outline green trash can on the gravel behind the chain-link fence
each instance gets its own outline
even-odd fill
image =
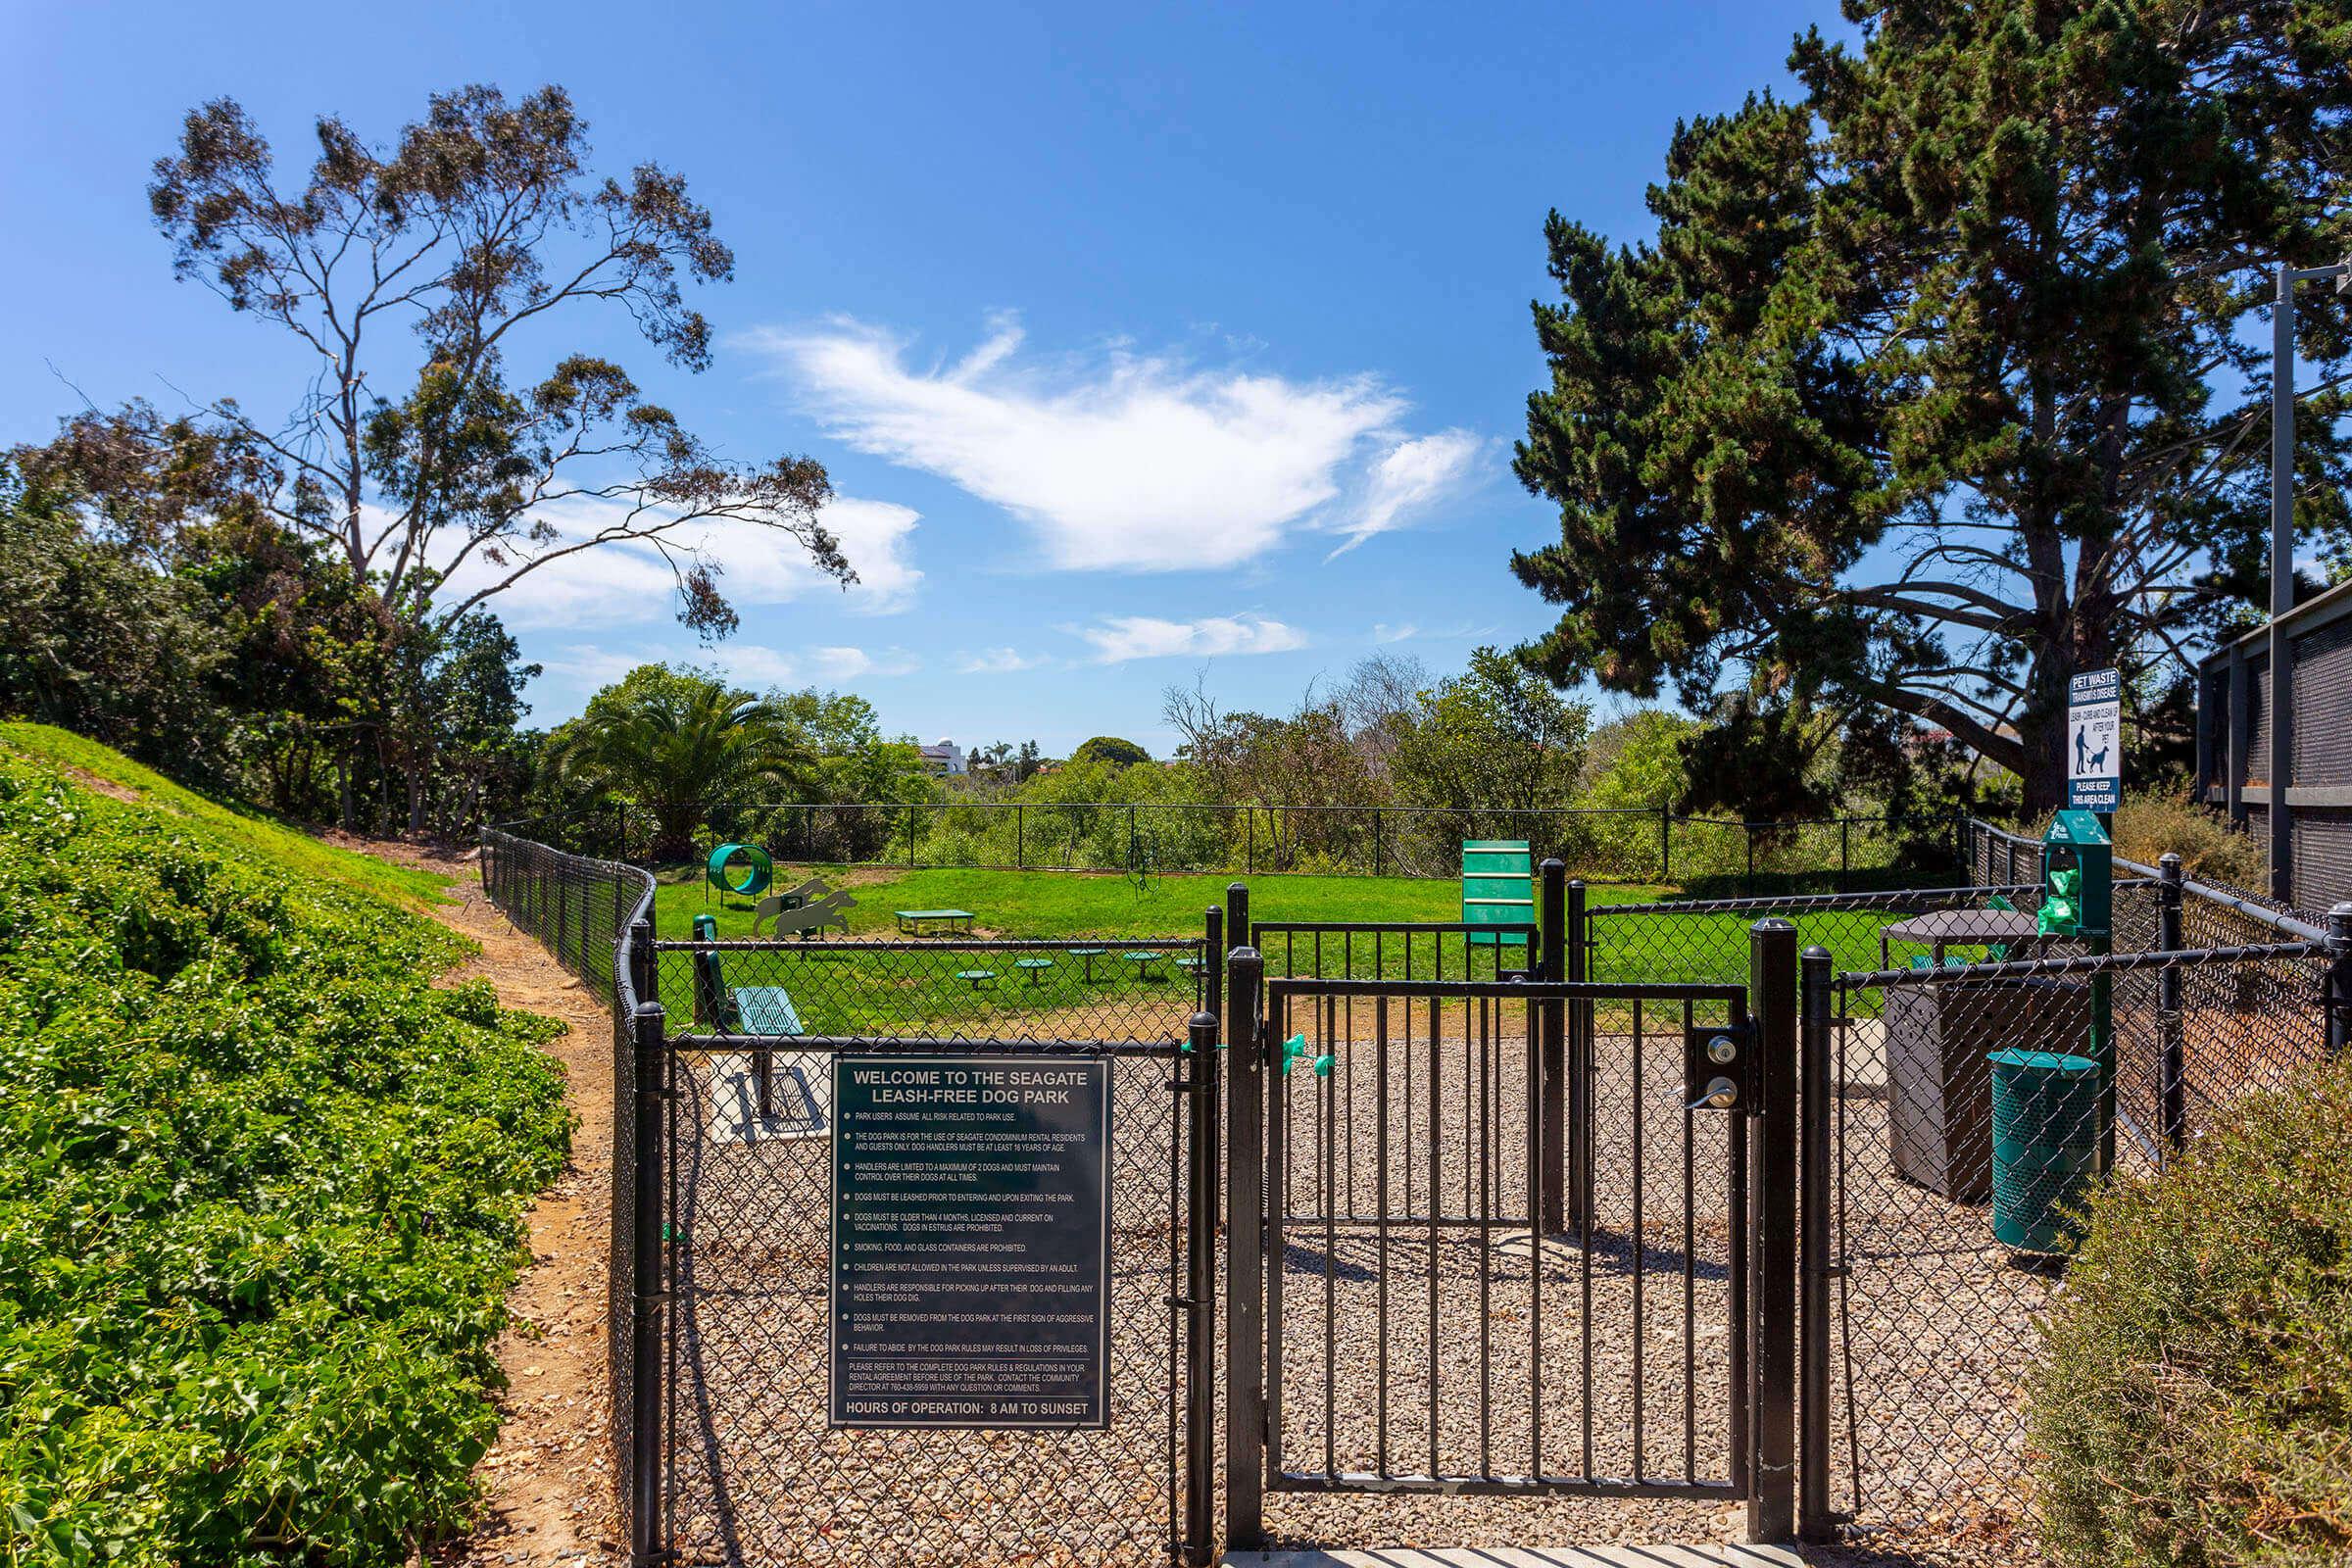
[[[2063,1253],[2098,1175],[2098,1063],[2060,1051],[1994,1051],[1992,1237],[2020,1253]]]

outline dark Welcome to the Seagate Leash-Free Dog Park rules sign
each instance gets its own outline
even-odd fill
[[[1110,1063],[833,1063],[833,1427],[1105,1427]]]

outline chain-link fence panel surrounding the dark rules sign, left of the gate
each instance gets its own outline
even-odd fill
[[[1131,1563],[1178,1549],[1190,1145],[1176,1067],[1200,959],[1200,938],[659,945],[677,1020],[666,1453],[680,1561]],[[1110,1065],[1108,1429],[828,1429],[840,1053]]]

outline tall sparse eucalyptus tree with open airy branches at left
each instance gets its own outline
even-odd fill
[[[212,430],[256,454],[268,512],[327,545],[393,637],[447,635],[555,562],[614,545],[659,557],[677,616],[722,637],[736,611],[717,524],[764,529],[854,581],[818,520],[823,465],[724,458],[619,362],[562,346],[602,306],[670,364],[710,364],[687,287],[731,277],[734,254],[682,176],[652,162],[597,174],[560,87],[435,94],[386,146],[325,115],[313,141],[282,176],[252,115],[216,99],[188,113],[148,200],[179,275],[294,350],[301,390],[282,414],[221,400]],[[414,813],[433,764],[423,691],[388,698]]]

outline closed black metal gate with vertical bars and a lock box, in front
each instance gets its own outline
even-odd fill
[[[1755,1009],[1555,954],[1230,957],[1230,1544],[1270,1493],[1745,1500],[1755,1540],[1792,1533],[1797,954],[1769,924]]]

